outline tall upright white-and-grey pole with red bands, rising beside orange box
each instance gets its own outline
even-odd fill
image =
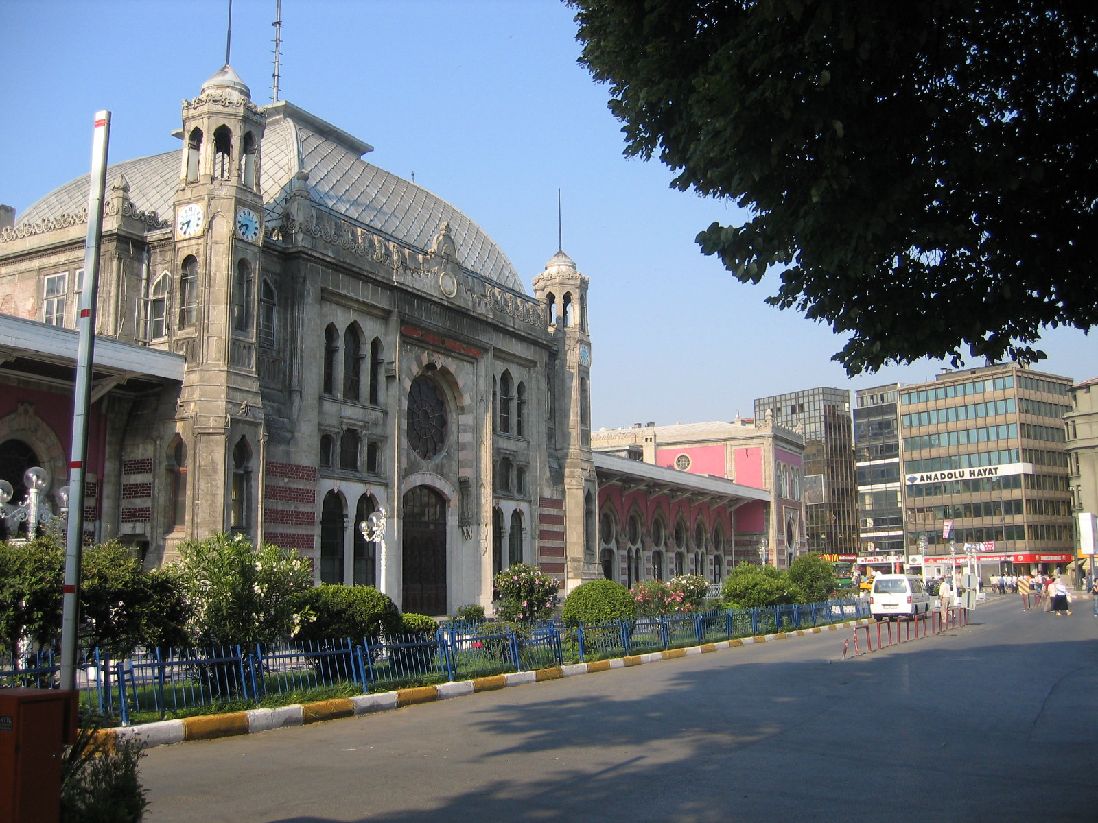
[[[107,185],[107,145],[111,113],[97,112],[91,140],[88,191],[88,234],[83,247],[85,290],[77,320],[76,390],[72,396],[72,456],[69,459],[69,517],[65,533],[65,587],[61,599],[60,687],[76,688],[76,640],[80,609],[80,552],[83,543],[85,461],[91,412],[91,367],[96,346],[96,304],[99,285],[99,245],[103,234],[103,192]]]

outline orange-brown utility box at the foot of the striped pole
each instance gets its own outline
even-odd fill
[[[78,692],[0,688],[0,823],[56,823]]]

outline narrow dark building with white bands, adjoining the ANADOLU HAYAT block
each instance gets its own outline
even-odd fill
[[[860,388],[854,395],[858,554],[862,557],[905,554],[899,391],[900,385],[892,383]]]

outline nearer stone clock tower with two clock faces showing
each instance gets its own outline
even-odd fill
[[[182,104],[169,323],[172,348],[187,367],[169,440],[181,441],[188,455],[186,497],[193,516],[175,518],[166,556],[175,542],[212,531],[260,533],[255,489],[262,482],[265,440],[257,371],[265,121],[227,65]],[[208,512],[202,521],[197,500]]]

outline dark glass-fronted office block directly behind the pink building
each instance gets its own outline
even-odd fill
[[[755,419],[773,418],[805,439],[804,483],[808,551],[853,554],[858,546],[856,484],[850,392],[808,388],[754,402]]]

